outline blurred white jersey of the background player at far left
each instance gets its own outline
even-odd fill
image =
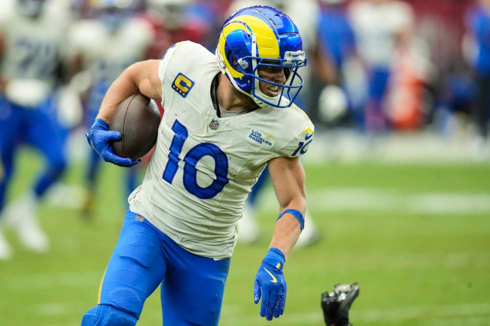
[[[1,11],[0,34],[5,44],[0,74],[9,81],[4,96],[22,106],[37,106],[55,85],[70,23],[69,7],[63,1],[48,0],[39,17],[29,18],[17,12],[14,1],[6,0]]]

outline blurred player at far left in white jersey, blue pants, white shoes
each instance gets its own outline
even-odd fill
[[[0,220],[11,222],[29,250],[49,247],[36,208],[65,169],[65,128],[58,120],[54,91],[69,25],[69,8],[57,0],[4,0],[0,12]],[[18,146],[36,148],[45,168],[27,194],[4,208]],[[3,223],[5,224],[5,223]],[[0,233],[0,259],[11,249]]]

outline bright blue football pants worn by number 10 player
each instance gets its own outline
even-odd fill
[[[230,259],[182,249],[141,216],[127,211],[99,289],[81,326],[133,326],[161,284],[163,326],[218,325]]]

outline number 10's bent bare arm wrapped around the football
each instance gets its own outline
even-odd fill
[[[161,100],[161,82],[158,78],[160,60],[133,63],[110,85],[100,104],[97,118],[110,122],[119,105],[127,97],[141,93],[146,97]]]

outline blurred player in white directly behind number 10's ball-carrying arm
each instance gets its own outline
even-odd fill
[[[81,66],[90,79],[84,99],[87,129],[95,120],[110,84],[130,64],[143,60],[153,41],[151,26],[134,15],[137,4],[136,0],[91,1],[89,16],[96,18],[79,20],[73,26],[72,48],[79,53]],[[83,204],[87,214],[92,210],[99,165],[100,157],[92,150],[86,174],[87,195]],[[135,188],[136,179],[137,170],[129,171],[124,195]]]

